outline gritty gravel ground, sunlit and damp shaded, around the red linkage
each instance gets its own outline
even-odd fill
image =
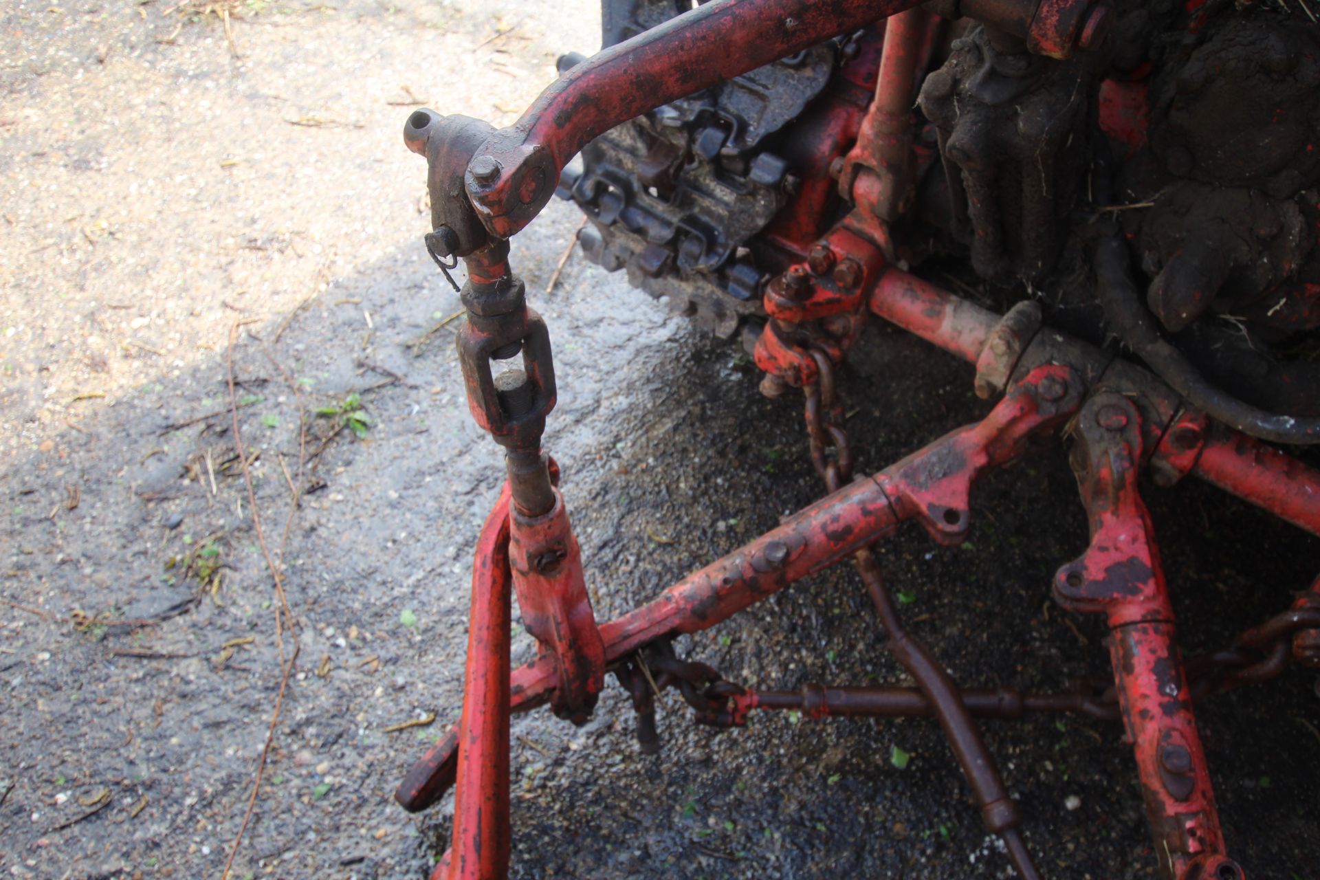
[[[391,793],[458,715],[470,555],[502,467],[467,416],[454,325],[436,330],[458,299],[421,248],[425,173],[400,129],[418,100],[511,121],[560,51],[598,45],[598,12],[224,8],[232,40],[220,7],[0,11],[8,876],[220,876],[280,681],[227,412],[236,323],[240,431],[260,453],[257,512],[300,656],[234,876],[420,879],[449,833],[451,803],[409,817]],[[756,394],[737,350],[579,256],[544,294],[577,223],[553,203],[513,261],[553,335],[546,447],[607,617],[818,486],[797,401]],[[969,368],[884,329],[849,372],[862,470],[986,409]],[[313,414],[358,412],[352,394],[362,438]],[[1315,574],[1320,542],[1232,499],[1148,495],[1189,649]],[[993,475],[974,500],[962,548],[915,530],[882,545],[915,632],[969,685],[1102,674],[1096,621],[1065,620],[1048,596],[1086,541],[1064,456]],[[902,681],[843,570],[678,646],[763,687]],[[531,649],[517,631],[516,660]],[[1312,686],[1294,672],[1201,712],[1230,851],[1254,876],[1320,876]],[[659,756],[638,753],[618,690],[583,728],[515,719],[513,876],[1006,876],[933,723],[785,715],[717,734],[669,703]],[[1152,876],[1121,731],[986,730],[1047,876]],[[895,747],[912,756],[903,769]]]

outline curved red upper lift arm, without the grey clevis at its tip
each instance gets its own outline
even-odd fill
[[[917,0],[713,0],[574,66],[510,128],[491,135],[466,175],[491,235],[511,237],[549,201],[560,172],[591,139],[702,88]],[[490,157],[498,168],[486,161]]]

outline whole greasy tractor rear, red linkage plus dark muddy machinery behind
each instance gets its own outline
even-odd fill
[[[473,417],[508,480],[477,549],[462,718],[396,797],[454,789],[441,879],[506,876],[510,712],[585,722],[612,673],[643,748],[653,698],[697,720],[754,710],[933,715],[985,826],[1041,876],[975,716],[1121,720],[1162,876],[1241,880],[1193,703],[1320,668],[1320,579],[1226,649],[1179,652],[1138,476],[1193,476],[1320,534],[1320,26],[1303,0],[605,0],[605,49],[565,55],[513,125],[413,112],[442,269],[463,260],[458,338]],[[579,161],[574,161],[581,154]],[[826,495],[598,621],[541,449],[554,406],[545,322],[508,240],[558,193],[586,255],[801,389]],[[995,314],[920,277],[962,268]],[[909,272],[913,269],[913,272]],[[873,315],[975,364],[982,421],[867,476],[851,472],[838,367]],[[900,522],[958,544],[969,492],[1027,443],[1064,434],[1090,544],[1053,599],[1100,613],[1113,682],[1064,694],[960,690],[908,631],[869,550]],[[754,691],[671,641],[850,559],[916,687]],[[519,603],[539,656],[510,669]]]

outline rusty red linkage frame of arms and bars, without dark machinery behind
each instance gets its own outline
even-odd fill
[[[964,15],[993,20],[1055,57],[1102,42],[1110,16],[1104,3],[1090,0],[968,0],[964,7]],[[508,239],[541,211],[565,165],[595,136],[886,18],[874,102],[854,120],[855,142],[832,162],[832,178],[854,207],[824,236],[795,244],[800,261],[764,292],[770,321],[755,351],[771,391],[805,389],[812,459],[829,493],[643,607],[598,621],[556,488],[557,466],[541,449],[556,401],[549,335],[508,265]],[[1041,326],[1030,301],[998,315],[892,265],[886,218],[894,215],[895,181],[912,149],[913,77],[931,18],[913,0],[713,0],[570,67],[508,128],[428,110],[409,116],[405,141],[429,165],[428,248],[444,268],[465,260],[469,274],[458,348],[471,414],[506,447],[508,466],[477,545],[462,718],[396,793],[405,809],[421,810],[454,789],[453,840],[433,880],[507,875],[510,715],[549,703],[561,718],[582,723],[607,672],[632,697],[643,748],[655,745],[653,697],[668,686],[681,691],[698,720],[719,726],[742,724],[754,710],[933,715],[985,826],[1002,836],[1023,877],[1040,872],[975,716],[1072,711],[1121,719],[1162,875],[1246,876],[1225,852],[1193,703],[1271,678],[1291,662],[1320,666],[1320,581],[1228,649],[1184,662],[1138,476],[1148,471],[1164,486],[1195,476],[1320,534],[1320,472],[1208,418],[1184,400],[1185,389],[1143,367]],[[1114,239],[1097,247],[1097,274],[1119,294],[1134,293],[1122,289],[1126,259]],[[999,400],[982,421],[854,479],[834,367],[867,314],[975,364],[977,393]],[[492,363],[519,355],[519,368],[495,373]],[[1090,544],[1059,569],[1053,598],[1069,611],[1105,615],[1113,683],[1063,694],[960,690],[904,631],[869,548],[908,520],[941,544],[961,542],[978,476],[1020,456],[1034,438],[1064,429],[1073,438],[1071,460]],[[754,691],[675,657],[669,643],[676,636],[714,627],[846,558],[915,687]],[[539,656],[511,669],[515,598]]]

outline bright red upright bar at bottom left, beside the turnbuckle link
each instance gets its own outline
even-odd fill
[[[432,880],[508,875],[510,604],[508,484],[482,526],[467,617],[463,714],[458,722],[454,836]]]

